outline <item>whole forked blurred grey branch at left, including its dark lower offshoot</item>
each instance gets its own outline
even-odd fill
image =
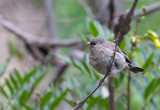
[[[55,52],[55,47],[59,46],[76,46],[77,49],[83,49],[84,44],[81,40],[58,40],[58,39],[46,39],[40,36],[32,35],[26,32],[23,32],[21,29],[17,28],[15,25],[10,23],[7,20],[4,20],[0,17],[0,24],[5,27],[7,30],[11,31],[18,37],[23,40],[27,50],[29,53],[38,61],[43,64],[51,63],[52,65],[58,65],[57,68],[57,76],[54,79],[54,83],[59,79],[60,76],[64,73],[65,69],[68,67],[64,61],[57,57],[59,54],[57,51]],[[50,48],[54,49],[53,55],[49,59],[46,58],[46,55],[50,52]]]

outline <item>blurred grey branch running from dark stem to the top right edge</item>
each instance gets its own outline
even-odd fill
[[[146,6],[145,12],[143,12],[142,9],[135,11],[134,17],[139,17],[143,14],[144,15],[151,14],[151,13],[158,11],[158,10],[160,10],[160,2],[152,4],[150,6]]]

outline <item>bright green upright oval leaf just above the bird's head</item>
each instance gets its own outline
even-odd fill
[[[97,37],[98,34],[99,34],[98,29],[96,28],[96,26],[93,23],[93,21],[89,22],[89,31],[94,37]]]

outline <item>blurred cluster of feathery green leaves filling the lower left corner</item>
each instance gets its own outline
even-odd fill
[[[3,65],[1,67],[4,68]],[[5,69],[6,67],[7,66],[5,66]],[[38,66],[22,77],[18,70],[15,69],[14,73],[10,74],[9,78],[5,79],[4,84],[0,86],[0,94],[3,95],[6,99],[6,101],[1,102],[4,103],[4,105],[6,103],[4,108],[15,110],[25,108],[26,110],[35,110],[38,108],[44,109],[44,107],[47,107],[53,110],[55,107],[57,107],[59,103],[64,100],[69,89],[64,91],[61,90],[61,95],[59,96],[54,94],[54,91],[50,89],[44,93],[38,102],[30,103],[29,101],[33,95],[34,90],[44,79],[47,72],[48,68]]]

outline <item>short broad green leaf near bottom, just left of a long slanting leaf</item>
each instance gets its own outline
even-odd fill
[[[51,99],[51,97],[52,97],[52,92],[48,92],[47,94],[45,94],[40,100],[41,107],[45,106],[45,104]]]

